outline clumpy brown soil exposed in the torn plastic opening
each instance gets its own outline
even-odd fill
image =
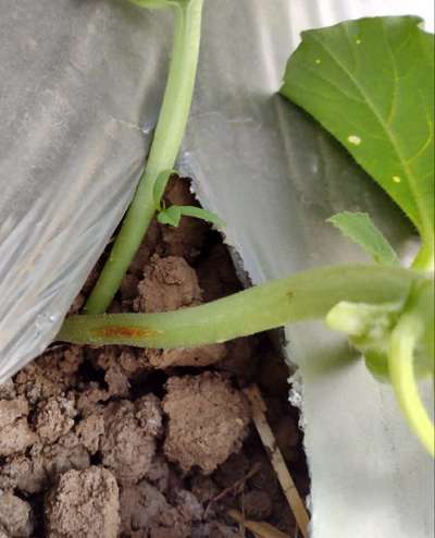
[[[166,204],[174,203],[196,203],[187,182],[171,181]],[[71,311],[79,311],[100,268]],[[111,311],[184,308],[239,289],[208,225],[154,221]],[[0,387],[0,538],[240,536],[229,508],[295,536],[240,390],[259,384],[306,496],[287,377],[264,334],[196,350],[54,344]]]

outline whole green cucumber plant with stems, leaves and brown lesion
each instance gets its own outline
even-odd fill
[[[411,429],[434,455],[434,426],[417,384],[434,376],[434,36],[411,16],[306,32],[281,89],[340,140],[414,224],[422,246],[412,267],[400,267],[368,215],[344,212],[331,223],[373,264],[310,269],[174,313],[104,315],[154,212],[172,225],[182,215],[222,225],[199,208],[166,209],[161,201],[191,102],[202,0],[133,1],[175,12],[163,105],[136,196],[86,314],[69,317],[58,339],[186,347],[323,319],[348,335],[377,378],[391,382]]]

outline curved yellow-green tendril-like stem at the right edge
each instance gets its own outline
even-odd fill
[[[435,429],[419,394],[414,350],[422,332],[421,321],[403,316],[393,331],[388,356],[389,375],[397,400],[412,431],[427,452],[435,456]]]

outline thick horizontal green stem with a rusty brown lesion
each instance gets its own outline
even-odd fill
[[[311,269],[201,306],[161,314],[72,316],[58,340],[141,347],[192,347],[324,318],[340,301],[405,301],[423,277],[409,269],[349,265]]]

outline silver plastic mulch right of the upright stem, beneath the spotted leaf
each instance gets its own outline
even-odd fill
[[[215,50],[208,58],[212,66],[199,73],[186,140],[197,192],[231,223],[227,242],[254,283],[313,266],[366,261],[325,224],[344,209],[370,212],[406,257],[414,237],[397,208],[315,122],[271,95],[300,29],[406,13],[407,7],[296,0],[281,5],[272,10],[258,0],[245,2],[243,13],[234,9],[234,24],[244,32],[232,40],[233,53]],[[417,2],[412,11],[418,8]],[[420,8],[424,13],[430,5]],[[217,4],[209,7],[210,19],[219,12]],[[210,25],[206,50],[219,32]],[[303,415],[312,537],[433,536],[434,463],[409,432],[391,388],[378,383],[357,356],[349,360],[345,340],[322,323],[293,326],[286,334],[302,381],[290,395]],[[430,398],[431,387],[424,389]]]

